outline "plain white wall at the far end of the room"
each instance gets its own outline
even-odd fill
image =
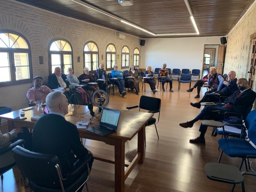
[[[202,70],[204,45],[220,44],[220,36],[191,38],[147,38],[142,46],[142,66]],[[218,52],[217,52],[218,53]]]

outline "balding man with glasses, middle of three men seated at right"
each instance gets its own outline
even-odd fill
[[[230,71],[228,73],[228,80],[224,81],[220,87],[220,91],[207,91],[204,97],[198,103],[190,103],[191,106],[200,108],[202,102],[213,102],[218,101],[220,96],[230,96],[238,90],[236,85],[236,72]]]

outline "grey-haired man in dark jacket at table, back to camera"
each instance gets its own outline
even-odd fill
[[[34,152],[56,155],[64,174],[72,172],[76,162],[87,155],[90,155],[91,159],[90,169],[93,162],[92,153],[84,148],[80,141],[76,125],[65,119],[65,115],[68,114],[68,105],[68,100],[60,91],[49,93],[46,97],[46,106],[50,113],[38,119],[33,130]],[[82,168],[77,176],[85,170],[87,167]],[[75,181],[76,176],[72,180]],[[82,191],[82,188],[79,191]]]

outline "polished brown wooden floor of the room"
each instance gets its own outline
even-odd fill
[[[192,86],[194,83],[195,81],[192,82]],[[178,91],[178,83],[173,81],[173,93],[159,91],[153,95],[148,84],[146,84],[146,93],[140,90],[140,95],[135,95],[131,91],[125,97],[120,97],[118,91],[114,95],[110,93],[110,102],[107,107],[113,109],[126,109],[127,106],[137,105],[141,95],[162,99],[160,123],[157,124],[160,139],[157,139],[154,125],[146,127],[145,162],[138,164],[126,179],[126,192],[230,191],[232,187],[230,184],[209,180],[204,170],[207,162],[218,160],[220,150],[218,150],[217,141],[220,137],[210,137],[212,128],[209,128],[206,133],[206,145],[190,144],[189,139],[198,137],[201,122],[195,123],[194,127],[188,129],[179,126],[179,123],[191,120],[200,112],[200,109],[189,105],[190,102],[196,102],[199,99],[194,99],[196,90],[188,93],[186,91],[188,88],[188,84],[182,83],[181,90]],[[140,89],[142,89],[142,84],[140,84]],[[201,98],[205,91],[206,89],[202,88]],[[6,127],[2,125],[3,131],[6,131]],[[113,146],[88,139],[85,145],[94,154],[114,158]],[[126,143],[126,160],[134,157],[136,146],[137,137]],[[240,159],[230,158],[224,154],[221,162],[239,166]],[[252,168],[256,170],[255,161],[252,162]],[[244,170],[244,167],[242,169]],[[245,176],[246,192],[256,191],[255,181],[256,177]],[[91,192],[113,192],[114,165],[95,160],[88,186]],[[0,190],[2,192],[28,192],[29,188],[20,184],[18,169],[14,168],[4,174]],[[237,185],[234,191],[240,192],[241,185]],[[83,192],[86,192],[86,188]]]

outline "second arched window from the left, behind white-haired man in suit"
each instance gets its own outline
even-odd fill
[[[60,67],[62,73],[67,73],[68,67],[73,67],[73,51],[67,40],[52,40],[50,43],[50,67],[49,73],[53,73],[55,67]]]

